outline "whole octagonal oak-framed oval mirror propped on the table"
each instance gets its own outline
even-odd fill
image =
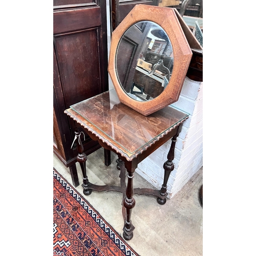
[[[145,116],[176,102],[191,56],[173,8],[136,5],[112,33],[108,70],[119,100]]]

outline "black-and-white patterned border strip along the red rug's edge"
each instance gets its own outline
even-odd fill
[[[106,233],[106,235],[115,243],[125,255],[140,256],[129,244],[118,234],[115,229],[100,215],[100,213],[74,189],[71,184],[62,177],[61,174],[53,167],[53,176],[62,184],[63,187],[79,202],[79,204],[88,212],[98,226]],[[98,218],[97,218],[98,217]]]

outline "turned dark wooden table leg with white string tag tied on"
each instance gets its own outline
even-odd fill
[[[78,155],[76,157],[77,162],[80,164],[81,170],[82,170],[82,179],[83,179],[83,194],[86,196],[91,195],[92,189],[88,189],[87,187],[89,186],[89,180],[86,174],[86,160],[87,160],[87,155],[83,153],[83,145],[82,141],[80,138],[81,132],[78,131],[78,129],[75,129],[75,135],[78,138],[77,141],[77,151]]]

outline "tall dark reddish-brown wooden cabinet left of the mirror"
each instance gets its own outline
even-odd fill
[[[75,186],[75,123],[64,111],[109,89],[106,26],[104,0],[53,1],[53,151],[70,168]],[[100,145],[83,133],[89,155]]]

